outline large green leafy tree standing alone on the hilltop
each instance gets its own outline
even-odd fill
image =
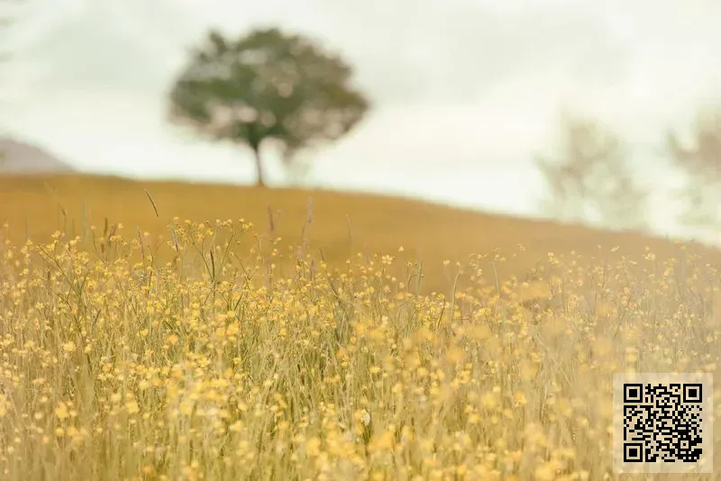
[[[172,87],[170,121],[250,147],[264,186],[266,141],[276,141],[290,163],[297,150],[337,140],[360,122],[370,105],[351,74],[300,35],[267,29],[231,41],[211,31]]]

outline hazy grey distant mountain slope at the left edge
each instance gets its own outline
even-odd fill
[[[0,174],[69,173],[75,169],[29,143],[0,137]]]

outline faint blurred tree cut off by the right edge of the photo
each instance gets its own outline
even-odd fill
[[[686,145],[675,132],[668,133],[666,142],[674,167],[686,175],[681,194],[687,206],[680,222],[721,228],[721,109],[698,113]]]

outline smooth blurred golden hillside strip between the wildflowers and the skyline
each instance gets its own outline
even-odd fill
[[[547,259],[549,252],[560,255],[576,250],[600,257],[642,259],[648,247],[659,258],[678,254],[678,247],[669,241],[635,233],[598,231],[379,195],[77,175],[0,177],[0,222],[9,222],[9,235],[15,242],[27,237],[45,240],[56,230],[81,235],[89,225],[102,230],[105,220],[122,223],[124,234],[130,237],[137,237],[137,231],[148,231],[152,238],[162,235],[167,240],[169,223],[176,216],[180,222],[243,218],[255,224],[256,233],[280,237],[292,246],[302,243],[305,232],[309,250],[316,254],[323,250],[324,259],[331,264],[342,264],[359,252],[420,258],[427,277],[436,283],[438,279],[451,282],[452,268],[443,267],[444,259],[465,261],[472,253],[494,249],[507,257],[505,262],[488,264],[499,277],[523,277],[534,262]],[[402,255],[398,253],[401,246]],[[616,246],[619,250],[611,253]],[[716,251],[698,249],[708,259],[718,259]]]

